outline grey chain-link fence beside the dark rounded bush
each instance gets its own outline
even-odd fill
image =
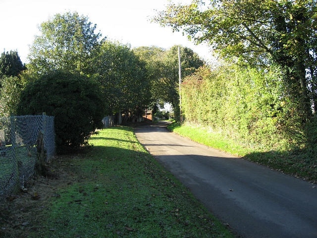
[[[0,118],[0,201],[33,175],[40,147],[49,160],[55,152],[54,117]]]

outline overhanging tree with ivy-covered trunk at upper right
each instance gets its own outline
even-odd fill
[[[253,65],[275,63],[284,72],[285,95],[303,121],[317,98],[317,0],[193,0],[169,4],[155,20],[207,42],[222,56]]]

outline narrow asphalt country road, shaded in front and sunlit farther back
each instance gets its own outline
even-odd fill
[[[168,132],[135,128],[145,148],[242,238],[317,238],[317,187]]]

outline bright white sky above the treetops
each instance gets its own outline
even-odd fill
[[[189,3],[190,0],[172,0]],[[163,10],[169,0],[0,0],[0,52],[17,50],[23,63],[27,62],[29,46],[39,35],[38,25],[56,13],[77,11],[97,24],[97,30],[109,40],[129,43],[132,48],[173,45],[191,48],[205,60],[211,59],[208,47],[196,46],[181,33],[151,23],[155,9]]]

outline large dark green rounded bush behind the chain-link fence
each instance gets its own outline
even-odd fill
[[[55,117],[58,153],[87,145],[88,138],[102,126],[105,105],[100,85],[83,75],[55,71],[28,83],[22,91],[18,115],[45,112]]]

